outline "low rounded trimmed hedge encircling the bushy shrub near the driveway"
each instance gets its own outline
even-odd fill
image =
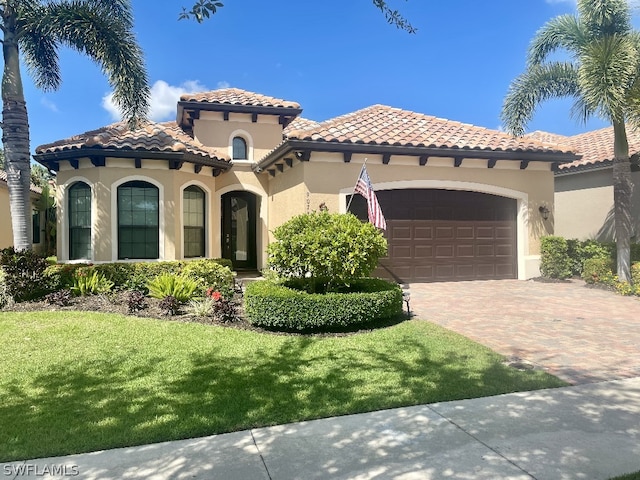
[[[245,292],[245,314],[252,325],[302,331],[348,327],[402,313],[402,289],[396,283],[363,278],[350,289],[313,294],[291,284],[251,282]]]

